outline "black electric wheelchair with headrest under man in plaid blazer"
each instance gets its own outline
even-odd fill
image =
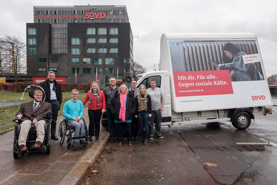
[[[45,100],[45,93],[44,93],[43,87],[36,85],[36,84],[34,84],[32,86],[39,87],[40,89],[33,89],[33,90],[29,91],[29,96],[31,98],[34,98],[34,91],[41,90],[43,92],[42,99]],[[31,86],[28,86],[27,88],[30,88],[30,87]],[[25,92],[25,90],[24,90],[24,92]],[[21,106],[23,106],[23,104],[24,103],[22,103]],[[19,138],[19,133],[20,133],[20,129],[21,129],[20,124],[21,124],[22,120],[17,117],[12,119],[12,122],[14,122],[14,124],[16,124],[15,130],[14,130],[14,146],[13,146],[13,156],[15,159],[18,158],[19,155],[24,155],[25,153],[36,152],[36,151],[46,151],[46,154],[50,154],[50,143],[51,143],[51,137],[50,137],[50,127],[51,126],[50,125],[52,122],[52,118],[53,118],[53,113],[47,112],[47,122],[44,125],[45,137],[44,137],[43,143],[40,148],[34,148],[34,144],[35,144],[36,138],[37,138],[37,131],[36,131],[35,125],[31,124],[31,128],[29,130],[28,137],[26,140],[26,146],[28,149],[23,152],[20,151],[19,145],[18,145],[18,138]]]

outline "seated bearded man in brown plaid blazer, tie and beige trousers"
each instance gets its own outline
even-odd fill
[[[18,138],[20,151],[27,150],[26,140],[31,124],[34,124],[37,130],[37,139],[34,148],[40,148],[45,133],[44,125],[47,121],[47,112],[51,112],[51,104],[42,101],[42,91],[34,91],[34,101],[26,102],[16,113],[18,118],[22,119],[21,129]]]

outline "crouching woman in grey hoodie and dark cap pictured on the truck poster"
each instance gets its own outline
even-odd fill
[[[264,80],[254,63],[244,63],[242,56],[247,54],[240,52],[234,44],[226,43],[223,51],[225,56],[233,60],[232,63],[217,64],[214,61],[210,61],[210,63],[217,70],[229,70],[232,82]]]

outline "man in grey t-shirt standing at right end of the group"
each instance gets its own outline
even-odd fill
[[[165,104],[165,95],[160,88],[156,87],[156,80],[150,80],[151,88],[147,89],[147,94],[151,97],[152,104],[152,116],[149,119],[149,139],[153,139],[154,135],[154,123],[155,123],[155,131],[156,137],[163,138],[161,135],[161,111],[163,111],[163,105]]]

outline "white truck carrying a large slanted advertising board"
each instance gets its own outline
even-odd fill
[[[247,129],[255,115],[273,114],[257,37],[253,33],[161,36],[160,71],[136,77],[165,94],[162,125],[231,121]]]

